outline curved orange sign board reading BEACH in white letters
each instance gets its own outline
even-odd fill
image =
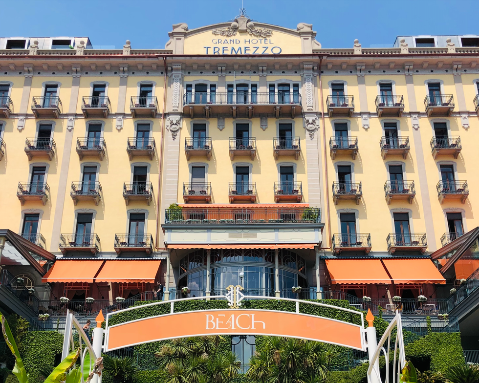
[[[108,327],[106,351],[157,340],[203,335],[269,335],[364,349],[361,326],[307,314],[268,310],[205,310],[166,314]]]

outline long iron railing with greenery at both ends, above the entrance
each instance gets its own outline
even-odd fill
[[[165,223],[208,223],[208,224],[278,224],[320,223],[319,208],[205,208],[167,209]]]

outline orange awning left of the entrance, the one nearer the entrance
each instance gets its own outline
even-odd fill
[[[160,260],[108,260],[96,282],[154,283]]]

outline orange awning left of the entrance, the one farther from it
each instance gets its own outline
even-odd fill
[[[57,260],[42,278],[42,282],[88,282],[103,265],[104,260]]]

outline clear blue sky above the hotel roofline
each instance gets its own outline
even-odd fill
[[[456,2],[457,1],[457,2]],[[243,0],[257,21],[313,24],[324,48],[392,46],[398,35],[479,34],[479,0]],[[87,36],[93,45],[164,48],[172,24],[228,21],[241,0],[0,0],[1,37]]]

